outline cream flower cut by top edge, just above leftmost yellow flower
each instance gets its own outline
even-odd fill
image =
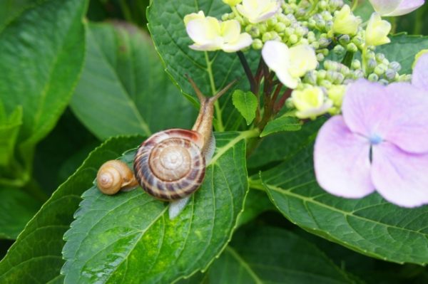
[[[260,23],[266,21],[280,11],[280,0],[243,0],[243,4],[236,6],[239,13],[250,21]]]

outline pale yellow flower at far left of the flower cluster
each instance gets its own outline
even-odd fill
[[[195,51],[235,52],[253,43],[248,33],[240,33],[240,23],[236,20],[220,22],[214,17],[205,17],[203,11],[184,17],[185,28],[195,42],[190,48]]]

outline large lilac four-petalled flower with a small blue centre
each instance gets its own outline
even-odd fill
[[[375,189],[399,206],[428,203],[428,55],[412,84],[358,80],[343,115],[330,118],[315,142],[315,174],[331,194],[361,198]]]

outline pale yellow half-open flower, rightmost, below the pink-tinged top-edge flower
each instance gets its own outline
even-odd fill
[[[391,31],[391,23],[382,20],[379,14],[373,13],[370,17],[366,28],[365,43],[367,46],[382,46],[382,44],[390,43],[388,38]]]

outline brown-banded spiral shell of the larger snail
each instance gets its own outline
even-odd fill
[[[202,138],[198,132],[172,129],[158,132],[138,148],[134,172],[141,187],[157,199],[182,199],[199,188],[205,177]]]

